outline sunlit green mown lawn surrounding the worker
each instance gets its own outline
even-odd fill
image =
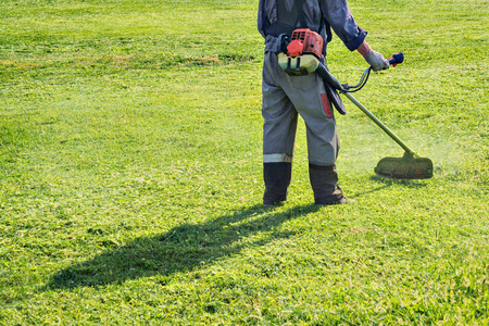
[[[488,3],[349,3],[406,58],[355,97],[435,176],[375,176],[403,150],[347,103],[352,202],[312,204],[301,124],[266,210],[258,1],[0,0],[0,325],[487,325]]]

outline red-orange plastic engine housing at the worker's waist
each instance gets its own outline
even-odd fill
[[[298,28],[292,33],[290,43],[287,46],[287,52],[290,57],[313,54],[321,59],[323,54],[323,38],[309,28]]]

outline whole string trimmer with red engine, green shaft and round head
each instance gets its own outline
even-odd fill
[[[281,68],[291,76],[317,73],[326,83],[326,91],[333,104],[341,114],[344,106],[336,90],[344,95],[363,113],[377,124],[390,138],[404,149],[402,158],[384,158],[375,167],[375,173],[381,177],[397,179],[425,179],[432,177],[432,162],[427,158],[421,158],[409,148],[394,133],[392,133],[381,121],[360,103],[351,93],[359,91],[368,80],[372,67],[365,70],[360,83],[353,86],[341,84],[322,63],[323,38],[309,28],[296,29],[289,40],[285,34],[280,35],[280,51],[277,52],[278,63]],[[404,61],[402,53],[397,53],[389,59],[392,66]]]

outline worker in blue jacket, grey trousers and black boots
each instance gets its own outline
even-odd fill
[[[331,40],[331,28],[350,51],[358,50],[374,71],[389,67],[388,61],[373,51],[348,8],[347,0],[260,0],[258,28],[265,38],[263,64],[263,204],[278,205],[287,199],[292,173],[292,155],[298,114],[306,126],[309,173],[314,202],[318,205],[344,203],[338,186],[336,159],[338,130],[330,99],[317,74],[289,76],[278,65],[275,52],[278,36],[297,28],[310,28],[323,37],[324,49]]]

